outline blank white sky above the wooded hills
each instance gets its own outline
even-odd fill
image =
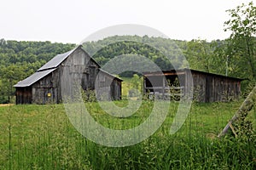
[[[108,26],[138,24],[172,39],[211,41],[230,35],[225,10],[251,1],[0,0],[0,38],[79,43]]]

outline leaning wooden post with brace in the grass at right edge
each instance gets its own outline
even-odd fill
[[[256,86],[253,88],[252,92],[248,94],[247,99],[243,101],[236,114],[231,118],[230,122],[224,127],[221,133],[218,134],[218,138],[223,137],[229,129],[236,135],[236,132],[232,126],[232,123],[236,121],[236,119],[241,116],[243,112],[248,112],[253,109],[253,95],[256,94]]]

